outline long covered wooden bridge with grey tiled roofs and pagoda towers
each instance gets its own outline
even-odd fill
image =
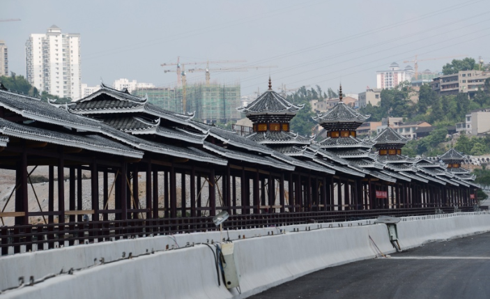
[[[358,139],[369,116],[342,99],[316,118],[328,137],[315,142],[290,131],[302,108],[270,88],[240,108],[254,123],[242,137],[103,84],[68,105],[0,86],[0,168],[16,177],[0,201],[1,254],[215,229],[221,210],[225,227],[245,229],[473,207],[474,177],[454,149],[434,163],[401,155],[407,140],[389,127]],[[40,166],[44,207],[31,183]]]

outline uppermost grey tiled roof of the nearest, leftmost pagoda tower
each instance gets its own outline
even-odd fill
[[[245,115],[252,114],[296,114],[305,105],[294,105],[273,90],[262,93],[246,107],[237,108]]]

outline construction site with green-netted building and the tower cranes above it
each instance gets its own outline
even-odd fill
[[[223,61],[192,61],[182,62],[180,57],[176,63],[162,63],[166,68],[164,73],[176,73],[176,85],[172,87],[156,87],[137,89],[134,95],[148,95],[148,101],[158,107],[178,113],[195,113],[194,119],[204,123],[229,123],[243,118],[236,107],[241,106],[240,82],[227,82],[220,84],[217,80],[210,80],[210,72],[247,72],[263,68],[276,68],[277,66],[232,66],[210,68],[210,64],[243,63],[245,60]],[[175,68],[169,69],[174,66]],[[187,70],[185,67],[187,66]],[[190,68],[192,66],[192,68]],[[200,66],[205,66],[200,67]],[[203,81],[187,83],[187,72],[204,72]]]

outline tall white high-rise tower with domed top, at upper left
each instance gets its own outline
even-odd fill
[[[39,91],[77,100],[82,95],[80,34],[61,33],[53,25],[26,42],[26,74]]]

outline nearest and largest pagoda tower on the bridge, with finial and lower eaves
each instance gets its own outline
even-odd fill
[[[264,144],[287,155],[299,155],[307,151],[313,137],[303,137],[291,132],[290,122],[304,105],[295,105],[272,89],[269,89],[246,107],[238,108],[253,123],[253,132],[246,138]]]

